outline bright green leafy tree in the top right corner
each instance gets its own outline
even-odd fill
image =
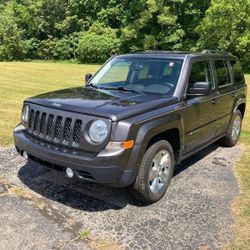
[[[198,48],[230,51],[250,59],[250,1],[213,0],[197,28]],[[247,54],[245,54],[247,53]]]

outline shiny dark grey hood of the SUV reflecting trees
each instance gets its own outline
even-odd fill
[[[38,95],[27,102],[83,114],[122,120],[177,102],[176,97],[79,87]]]

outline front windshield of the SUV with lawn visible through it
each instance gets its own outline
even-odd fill
[[[173,95],[182,60],[113,58],[91,80],[100,88]]]

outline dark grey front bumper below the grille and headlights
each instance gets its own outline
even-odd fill
[[[27,152],[30,160],[61,170],[70,167],[76,177],[90,182],[126,187],[133,184],[138,173],[140,147],[123,152],[84,153],[46,144],[22,130],[14,131],[14,141],[18,152]]]

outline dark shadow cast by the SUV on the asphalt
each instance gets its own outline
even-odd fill
[[[176,178],[181,172],[201,161],[217,148],[216,144],[212,144],[184,160],[175,168],[173,178]],[[27,162],[22,166],[19,169],[18,177],[26,186],[43,197],[77,210],[96,212],[110,209],[119,210],[128,204],[137,207],[146,206],[134,200],[126,188],[111,188],[69,179],[62,172],[49,169],[34,162]]]

